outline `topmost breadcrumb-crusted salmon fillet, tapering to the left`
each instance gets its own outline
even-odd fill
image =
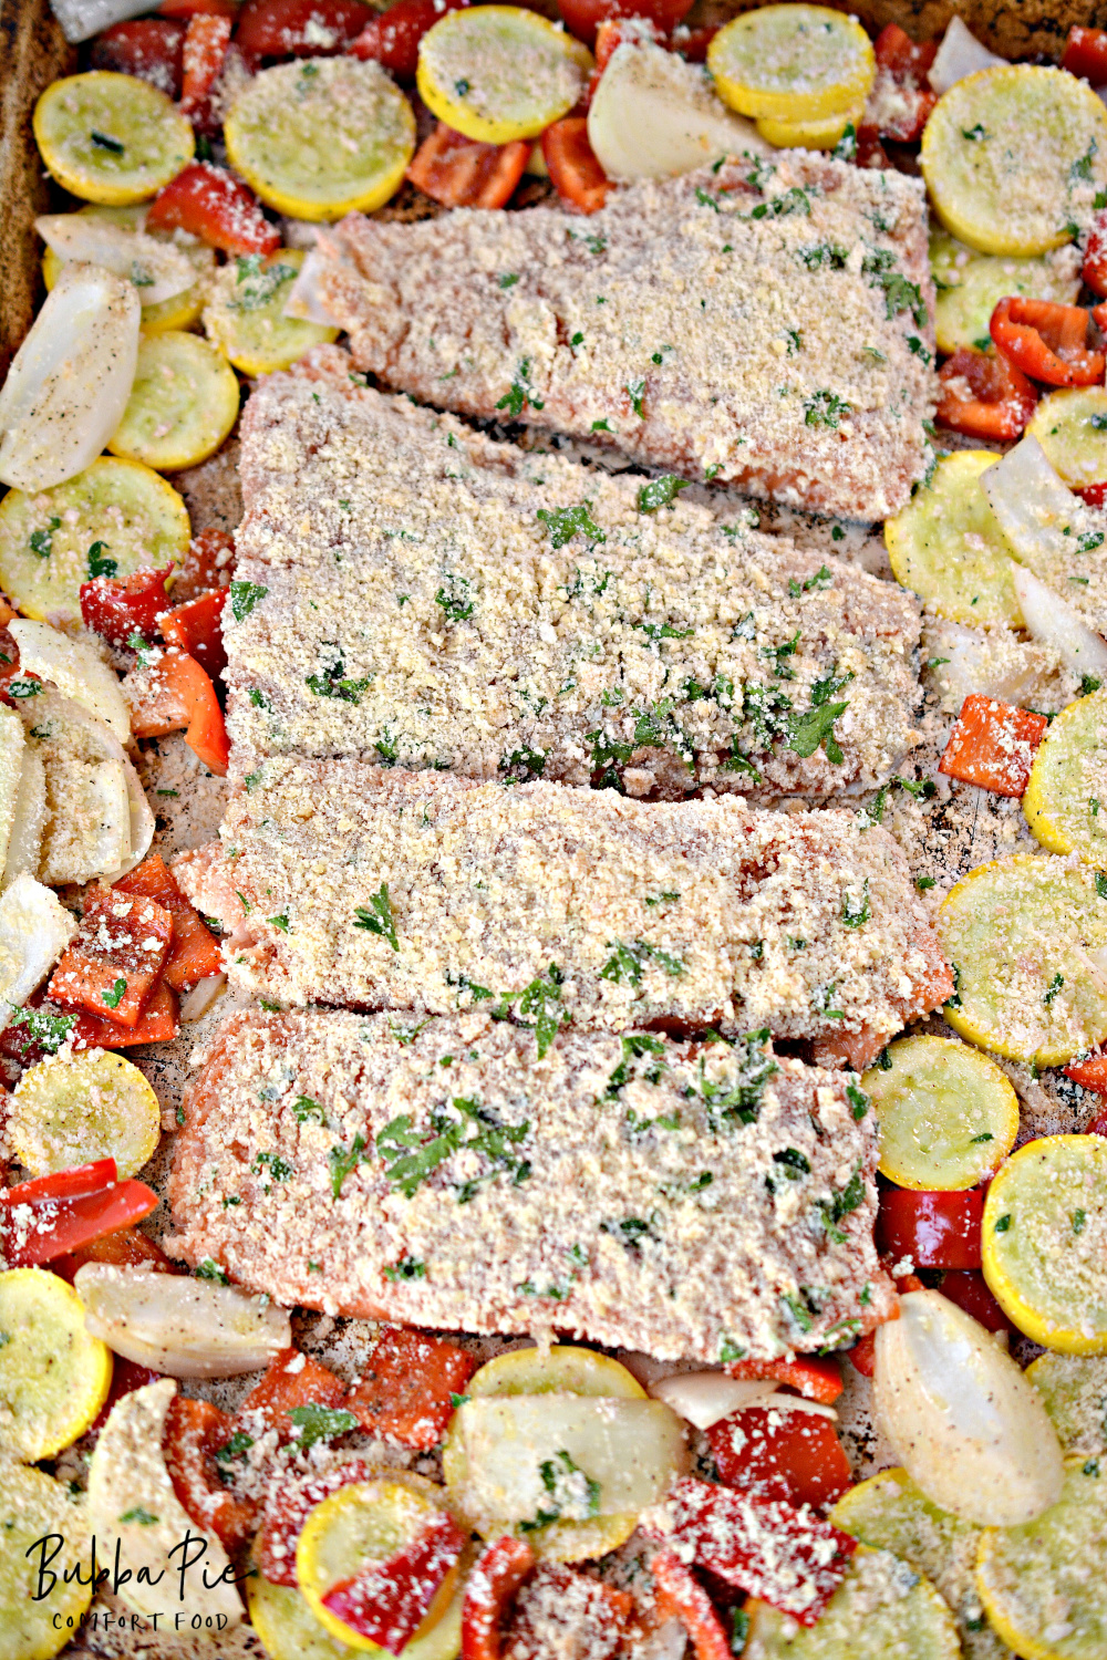
[[[319,246],[358,369],[425,403],[856,520],[926,471],[921,181],[783,151],[612,191],[588,221],[350,214]]]

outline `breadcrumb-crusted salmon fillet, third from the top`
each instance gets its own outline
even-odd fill
[[[858,815],[634,802],[365,762],[262,762],[174,875],[269,1003],[534,1028],[767,1028],[863,1064],[953,979],[906,862]]]

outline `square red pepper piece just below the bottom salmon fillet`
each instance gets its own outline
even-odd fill
[[[430,1451],[453,1418],[450,1396],[461,1394],[475,1371],[476,1361],[456,1343],[388,1326],[345,1406],[370,1434]]]

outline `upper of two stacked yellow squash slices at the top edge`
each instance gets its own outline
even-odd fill
[[[732,18],[712,40],[707,66],[732,110],[773,121],[851,110],[876,78],[861,25],[822,5],[767,5]]]

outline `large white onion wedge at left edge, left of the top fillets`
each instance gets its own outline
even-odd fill
[[[96,460],[131,397],[139,312],[111,271],[61,272],[0,390],[0,481],[50,490]]]

